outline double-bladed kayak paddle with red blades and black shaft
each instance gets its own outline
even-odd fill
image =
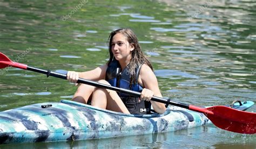
[[[30,70],[38,73],[43,73],[47,75],[47,77],[52,76],[56,78],[66,79],[66,75],[62,73],[51,72],[50,70],[37,69],[35,67],[30,67],[25,64],[12,62],[7,56],[5,56],[3,53],[0,52],[0,69],[3,69],[8,66],[17,67],[19,69],[24,69],[24,70]],[[114,87],[114,86],[106,85],[102,83],[97,83],[91,80],[79,78],[77,83],[83,83],[83,84],[92,85],[96,87],[102,87],[102,88],[114,90],[120,93],[129,94],[130,96],[140,97],[140,92],[126,90],[126,89],[122,89],[119,87]],[[187,105],[187,104],[182,104],[175,101],[170,101],[170,99],[164,99],[156,96],[153,96],[151,100],[157,101],[160,103],[183,107],[185,109],[197,111],[200,113],[204,113],[205,116],[208,119],[210,119],[215,126],[223,130],[237,132],[237,133],[245,133],[245,134],[256,133],[256,113],[253,113],[253,112],[240,111],[240,110],[232,109],[226,106],[211,106],[207,108],[198,107],[194,105]]]

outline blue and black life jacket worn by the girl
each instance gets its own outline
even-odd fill
[[[138,83],[139,71],[141,66],[142,65],[135,68],[135,84],[130,84],[131,75],[129,71],[129,65],[127,65],[125,69],[120,72],[120,64],[118,60],[114,59],[107,67],[105,79],[111,84],[111,86],[142,92],[143,86]],[[150,114],[150,101],[139,100],[139,98],[137,97],[132,97],[124,93],[119,93],[119,97],[122,99],[123,103],[131,114]]]

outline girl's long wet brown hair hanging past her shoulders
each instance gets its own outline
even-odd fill
[[[134,46],[134,50],[131,51],[132,56],[131,56],[131,62],[129,65],[129,72],[131,75],[130,84],[132,84],[132,83],[135,83],[135,80],[136,80],[135,79],[135,77],[136,77],[135,68],[137,66],[146,64],[151,68],[152,71],[153,71],[153,67],[152,67],[150,61],[145,57],[144,53],[142,52],[142,49],[140,48],[140,45],[138,43],[137,36],[131,29],[118,29],[118,30],[115,30],[110,33],[109,40],[108,40],[109,41],[109,55],[110,55],[110,58],[107,61],[108,66],[115,59],[114,55],[112,53],[112,50],[111,50],[111,44],[112,44],[112,39],[113,39],[114,35],[116,35],[117,33],[122,33],[126,37],[127,41],[130,44],[133,44],[133,46]]]

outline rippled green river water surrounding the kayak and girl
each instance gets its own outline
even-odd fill
[[[256,101],[256,1],[3,1],[0,52],[19,63],[65,72],[108,59],[107,37],[131,28],[151,60],[164,97],[198,106]],[[0,70],[0,111],[71,99],[66,80]],[[253,106],[250,112],[256,111]],[[170,133],[21,148],[256,148],[256,135],[214,125]],[[0,145],[17,148],[17,145]]]

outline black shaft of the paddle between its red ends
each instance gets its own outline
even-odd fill
[[[63,73],[58,73],[58,72],[52,72],[51,70],[42,70],[42,69],[37,69],[34,67],[30,67],[27,66],[26,70],[30,70],[30,71],[34,71],[34,72],[38,72],[38,73],[43,73],[45,75],[47,75],[47,77],[52,76],[52,77],[56,77],[56,78],[61,78],[61,79],[65,79],[66,80],[66,75]],[[104,89],[109,89],[109,90],[113,90],[113,91],[117,91],[120,93],[125,93],[125,94],[129,94],[130,96],[133,97],[140,97],[140,92],[136,92],[136,91],[132,91],[132,90],[127,90],[127,89],[122,89],[119,87],[114,87],[111,85],[107,85],[107,84],[102,84],[102,83],[98,83],[98,82],[94,82],[91,80],[87,80],[87,79],[82,79],[79,78],[77,83],[83,83],[83,84],[87,84],[87,85],[91,85],[91,86],[95,86],[95,87],[101,87]],[[157,101],[159,103],[164,103],[164,104],[170,104],[170,105],[174,105],[174,106],[179,106],[179,107],[183,107],[185,109],[189,109],[189,105],[187,104],[182,104],[182,103],[178,103],[175,101],[170,101],[170,99],[164,99],[164,98],[160,98],[160,97],[156,97],[153,96],[151,98],[152,101]]]

